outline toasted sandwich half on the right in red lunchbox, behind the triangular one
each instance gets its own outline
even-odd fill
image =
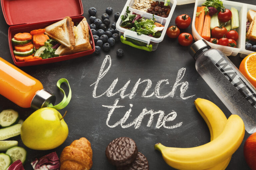
[[[62,56],[92,49],[89,39],[89,28],[85,18],[83,18],[77,27],[74,27],[74,33],[76,42],[74,49],[71,50],[64,45],[60,45],[55,51],[55,54]]]

